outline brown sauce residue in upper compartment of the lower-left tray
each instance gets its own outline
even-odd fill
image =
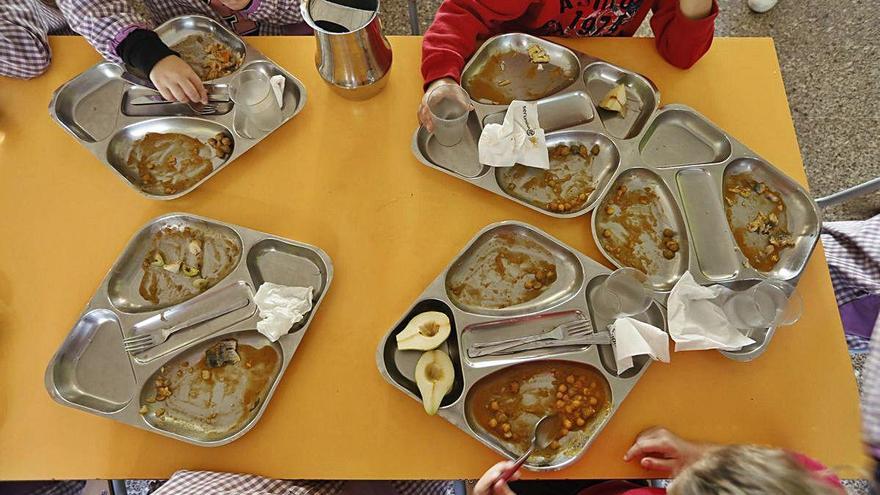
[[[219,232],[164,227],[150,239],[138,292],[160,306],[186,301],[229,275],[240,257],[238,242]]]

